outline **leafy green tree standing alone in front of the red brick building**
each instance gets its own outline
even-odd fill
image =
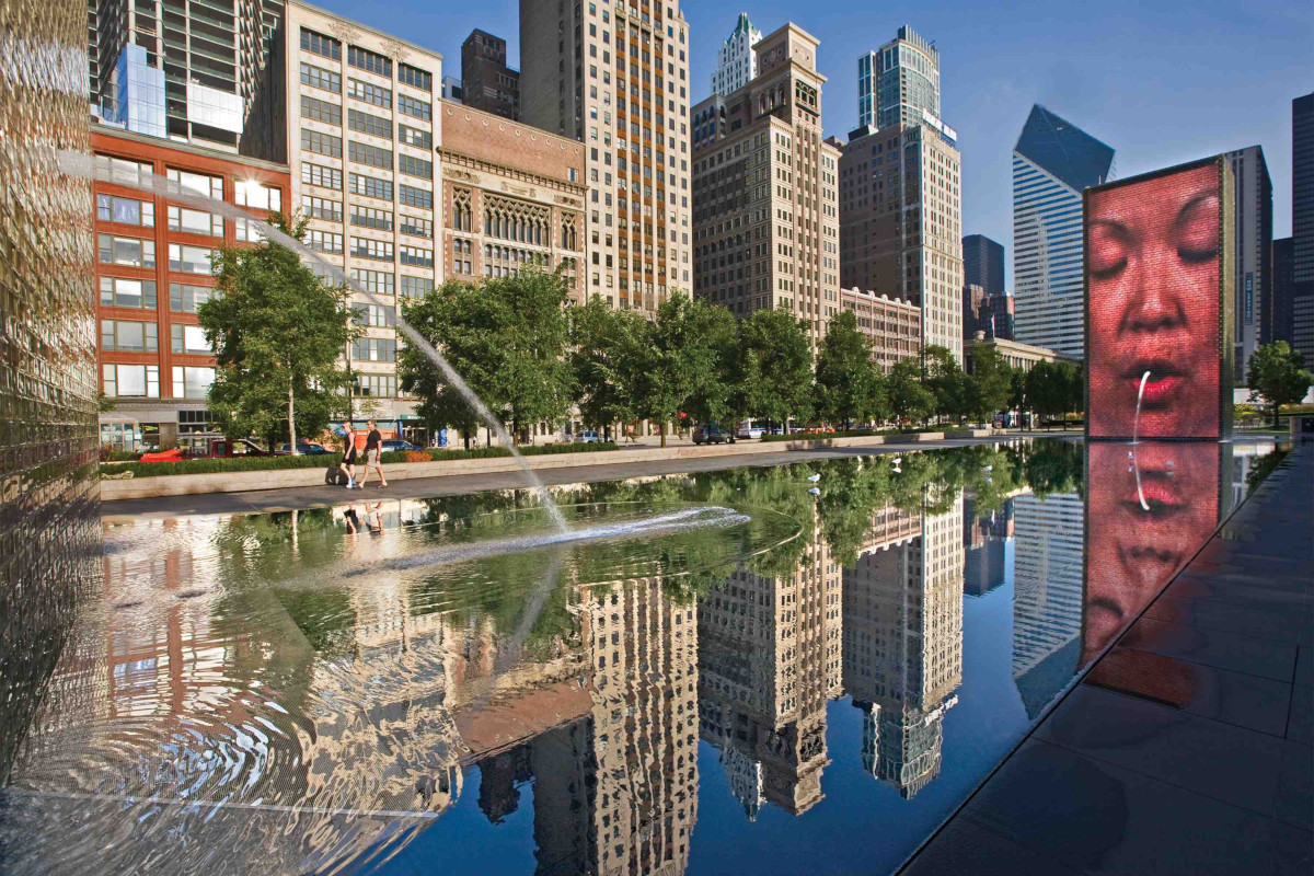
[[[306,221],[271,219],[300,238]],[[275,243],[219,248],[217,289],[197,309],[217,360],[210,410],[229,435],[277,435],[288,445],[350,411],[351,374],[338,366],[351,327],[347,290],[325,284],[292,250]]]

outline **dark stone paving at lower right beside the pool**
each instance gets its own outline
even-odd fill
[[[1314,445],[901,871],[1314,873]]]

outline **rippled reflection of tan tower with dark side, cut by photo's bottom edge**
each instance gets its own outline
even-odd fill
[[[480,805],[515,810],[533,779],[537,872],[683,873],[698,818],[698,624],[694,607],[643,579],[579,603],[589,708],[480,760]]]

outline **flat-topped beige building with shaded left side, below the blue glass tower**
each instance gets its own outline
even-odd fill
[[[859,127],[840,158],[840,282],[921,307],[922,345],[963,360],[961,154],[938,120]]]

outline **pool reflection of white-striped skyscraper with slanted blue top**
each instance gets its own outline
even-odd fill
[[[1013,682],[1029,717],[1072,679],[1081,650],[1081,496],[1014,499]]]

